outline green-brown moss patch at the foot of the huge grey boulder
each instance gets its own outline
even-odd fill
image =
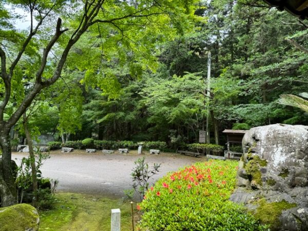
[[[259,219],[263,224],[269,225],[272,231],[279,229],[281,225],[279,217],[282,211],[297,206],[295,203],[288,203],[285,200],[268,203],[264,198],[260,199],[257,204],[259,207],[254,213],[255,218]]]

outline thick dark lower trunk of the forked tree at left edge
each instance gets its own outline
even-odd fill
[[[0,198],[1,206],[6,207],[17,203],[17,190],[12,174],[10,129],[1,126],[0,146],[2,148],[2,163],[0,165]]]

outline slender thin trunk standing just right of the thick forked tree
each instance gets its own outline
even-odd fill
[[[32,177],[32,189],[33,189],[33,198],[32,198],[32,206],[37,207],[37,178],[36,178],[36,166],[35,166],[35,156],[33,151],[33,142],[31,138],[31,133],[28,127],[28,118],[26,115],[26,112],[23,115],[24,119],[24,128],[25,128],[25,134],[26,138],[28,140],[28,146],[29,146],[29,155],[31,158],[31,177]]]

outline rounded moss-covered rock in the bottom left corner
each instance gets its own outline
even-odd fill
[[[40,216],[29,204],[16,204],[0,208],[0,230],[36,231],[40,225]]]

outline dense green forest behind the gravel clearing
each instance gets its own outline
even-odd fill
[[[64,140],[194,143],[208,110],[211,143],[216,131],[216,143],[224,144],[225,137],[219,137],[224,129],[308,125],[303,111],[278,103],[280,94],[298,95],[307,89],[308,22],[263,1],[199,4],[195,15],[202,20],[189,32],[167,39],[160,39],[158,31],[133,34],[121,26],[85,32],[71,50],[61,79],[44,89],[28,110],[32,134]],[[131,49],[110,46],[119,36]],[[140,50],[140,43],[148,44],[147,49]],[[57,59],[56,48],[53,52]],[[10,102],[11,111],[15,98],[18,95]],[[22,126],[17,123],[15,129]]]

